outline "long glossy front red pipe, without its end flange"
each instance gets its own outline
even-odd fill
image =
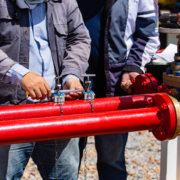
[[[160,126],[159,108],[99,112],[0,122],[0,145],[141,130]]]

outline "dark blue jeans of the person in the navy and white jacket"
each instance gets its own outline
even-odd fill
[[[126,180],[125,146],[128,133],[95,136],[99,180]],[[81,138],[80,159],[85,144]]]

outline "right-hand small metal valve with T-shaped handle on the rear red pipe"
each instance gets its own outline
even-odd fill
[[[92,101],[95,98],[95,93],[91,89],[92,86],[91,86],[91,81],[89,80],[89,78],[95,77],[96,75],[95,74],[82,74],[81,76],[87,78],[87,80],[84,83],[84,89],[85,89],[84,100],[91,100]]]

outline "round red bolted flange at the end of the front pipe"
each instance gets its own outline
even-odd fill
[[[153,97],[154,106],[158,111],[158,117],[161,121],[160,126],[153,130],[153,135],[159,141],[170,140],[176,131],[176,111],[174,104],[166,94],[158,94]]]

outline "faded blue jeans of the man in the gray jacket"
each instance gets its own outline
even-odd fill
[[[58,140],[58,180],[77,180],[79,138]],[[43,180],[56,179],[55,141],[0,146],[0,180],[20,180],[32,157]]]

